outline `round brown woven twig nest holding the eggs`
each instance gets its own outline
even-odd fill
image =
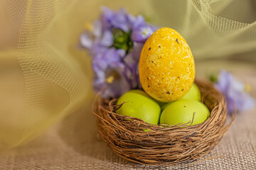
[[[139,164],[170,166],[203,157],[218,145],[234,118],[226,124],[225,99],[213,84],[204,81],[196,81],[196,84],[202,102],[210,110],[210,117],[204,123],[152,125],[139,118],[114,113],[117,99],[97,96],[92,110],[97,117],[100,137],[120,157]]]

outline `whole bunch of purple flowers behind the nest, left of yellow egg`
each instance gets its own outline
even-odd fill
[[[100,20],[80,35],[80,44],[92,57],[93,87],[103,98],[118,97],[130,89],[142,88],[138,62],[144,42],[156,28],[142,16],[102,7]]]

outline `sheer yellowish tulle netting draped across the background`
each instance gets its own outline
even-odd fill
[[[101,6],[123,6],[178,30],[196,60],[256,54],[253,0],[0,1],[1,149],[32,140],[92,101],[91,60],[78,42]]]

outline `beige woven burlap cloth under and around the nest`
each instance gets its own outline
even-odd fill
[[[223,67],[221,63],[215,67]],[[198,74],[210,72],[210,65],[213,63],[198,64]],[[226,67],[233,68],[237,77],[250,83],[252,96],[256,98],[255,69],[237,69],[235,64]],[[205,157],[215,155],[219,158],[189,166],[166,167],[134,164],[115,155],[97,137],[91,104],[92,101],[86,103],[80,111],[27,145],[1,152],[0,169],[256,169],[256,108],[238,114],[227,135]]]

